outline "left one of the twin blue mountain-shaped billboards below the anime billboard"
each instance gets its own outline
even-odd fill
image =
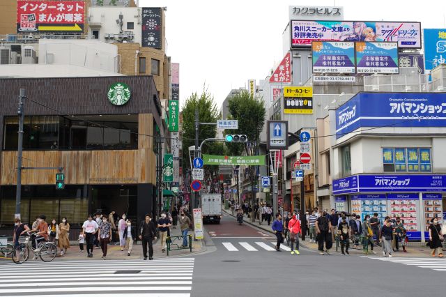
[[[355,73],[355,43],[314,41],[313,73]]]

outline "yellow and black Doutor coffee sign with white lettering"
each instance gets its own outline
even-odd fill
[[[284,88],[284,114],[313,114],[313,88],[286,86]]]

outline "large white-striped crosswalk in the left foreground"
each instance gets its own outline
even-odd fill
[[[0,296],[189,297],[193,273],[194,258],[29,260],[0,266]]]

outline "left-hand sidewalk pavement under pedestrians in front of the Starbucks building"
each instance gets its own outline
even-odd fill
[[[153,258],[159,259],[159,258],[167,258],[167,257],[188,257],[192,256],[194,254],[199,254],[201,252],[206,251],[206,245],[204,244],[204,241],[197,240],[194,241],[193,238],[193,232],[189,231],[189,235],[192,235],[192,252],[190,252],[190,249],[184,249],[184,250],[171,250],[169,251],[169,256],[167,256],[167,252],[161,251],[161,241],[160,238],[157,238],[155,241],[153,241]],[[178,224],[176,226],[176,229],[171,227],[171,236],[180,236],[181,235],[181,229]],[[178,241],[175,241],[174,243],[177,243]],[[181,245],[183,242],[183,239],[181,239],[178,243]],[[72,245],[71,245],[72,244]],[[86,245],[84,244],[84,252],[79,252],[79,244],[77,241],[70,242],[70,248],[67,250],[66,254],[63,256],[60,255],[60,249],[58,248],[58,253],[56,259],[58,260],[79,260],[79,259],[101,259],[102,257],[102,250],[100,248],[93,248],[93,258],[87,258],[86,253]],[[177,248],[176,246],[172,248]],[[31,255],[32,256],[32,255]],[[121,247],[119,245],[108,245],[107,249],[107,259],[112,260],[134,260],[134,259],[143,259],[142,254],[142,245],[141,241],[137,241],[137,244],[133,243],[133,248],[130,256],[128,256],[128,250],[121,251]],[[10,259],[9,259],[10,260]]]

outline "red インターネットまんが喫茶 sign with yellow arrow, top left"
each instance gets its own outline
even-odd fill
[[[84,33],[84,1],[17,0],[17,33]]]

